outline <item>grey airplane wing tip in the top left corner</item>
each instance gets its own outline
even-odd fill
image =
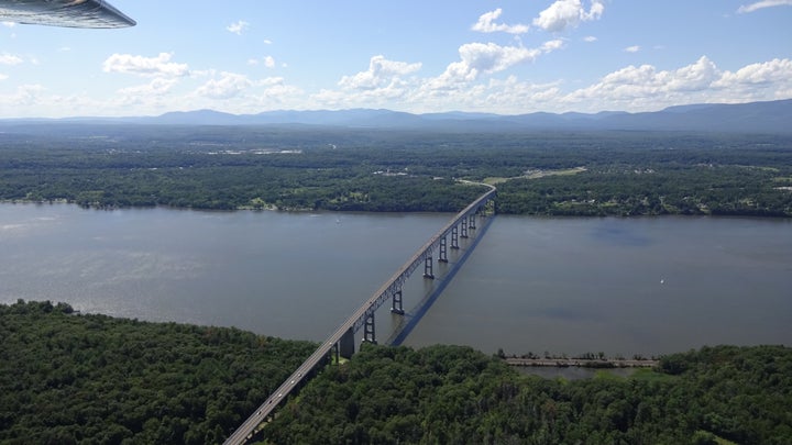
[[[0,0],[0,21],[66,27],[136,24],[105,0]]]

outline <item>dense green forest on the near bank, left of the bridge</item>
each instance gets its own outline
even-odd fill
[[[316,348],[227,327],[0,305],[0,443],[222,442]]]

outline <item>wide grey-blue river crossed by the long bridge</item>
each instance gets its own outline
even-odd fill
[[[322,341],[450,214],[0,204],[0,302]],[[416,271],[405,309],[443,282]],[[397,321],[377,313],[377,335]],[[406,344],[654,355],[792,345],[792,221],[494,219]]]

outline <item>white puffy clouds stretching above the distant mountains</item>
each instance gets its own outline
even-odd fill
[[[541,64],[551,58],[550,54],[558,52],[559,58],[566,56],[572,53],[566,51],[569,46],[591,49],[610,45],[608,51],[619,54],[622,60],[637,59],[625,52],[642,52],[638,45],[623,46],[630,42],[614,44],[606,43],[605,38],[601,42],[593,35],[574,35],[578,27],[603,16],[605,8],[601,0],[550,0],[548,4],[536,14],[530,26],[518,20],[503,20],[502,9],[479,15],[465,31],[482,33],[475,35],[495,42],[462,43],[455,46],[455,53],[453,46],[449,47],[449,58],[437,65],[373,53],[376,55],[365,56],[367,66],[365,58],[361,59],[361,70],[339,73],[309,91],[292,82],[297,76],[293,76],[283,62],[289,55],[279,53],[279,47],[271,49],[278,57],[277,71],[282,76],[262,76],[262,73],[273,73],[270,69],[276,68],[276,59],[262,55],[260,38],[260,46],[243,55],[232,69],[191,67],[178,60],[173,52],[155,56],[117,53],[101,63],[101,73],[96,75],[121,84],[95,92],[96,98],[86,92],[58,96],[45,86],[29,81],[8,87],[0,94],[0,103],[9,104],[8,109],[16,114],[29,115],[41,115],[41,110],[52,115],[134,115],[205,108],[231,113],[388,108],[409,112],[461,110],[519,114],[636,112],[684,103],[792,98],[792,60],[782,57],[723,69],[702,55],[688,64],[662,68],[649,63],[624,63],[585,82],[576,79],[574,73],[565,73],[571,77],[553,75],[551,80],[534,80],[541,78],[535,71],[543,68]],[[740,12],[791,4],[792,0],[766,0],[741,7]],[[248,26],[248,22],[238,21],[227,31],[241,35]],[[224,35],[222,30],[217,32]],[[263,44],[272,43],[264,41]],[[0,81],[8,86],[9,75],[12,80],[23,78],[21,74],[34,65],[34,60],[28,55],[23,59],[0,53],[0,67],[8,71],[0,73]]]

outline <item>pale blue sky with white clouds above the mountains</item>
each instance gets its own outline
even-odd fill
[[[792,0],[111,2],[138,25],[0,25],[0,118],[792,98]]]

